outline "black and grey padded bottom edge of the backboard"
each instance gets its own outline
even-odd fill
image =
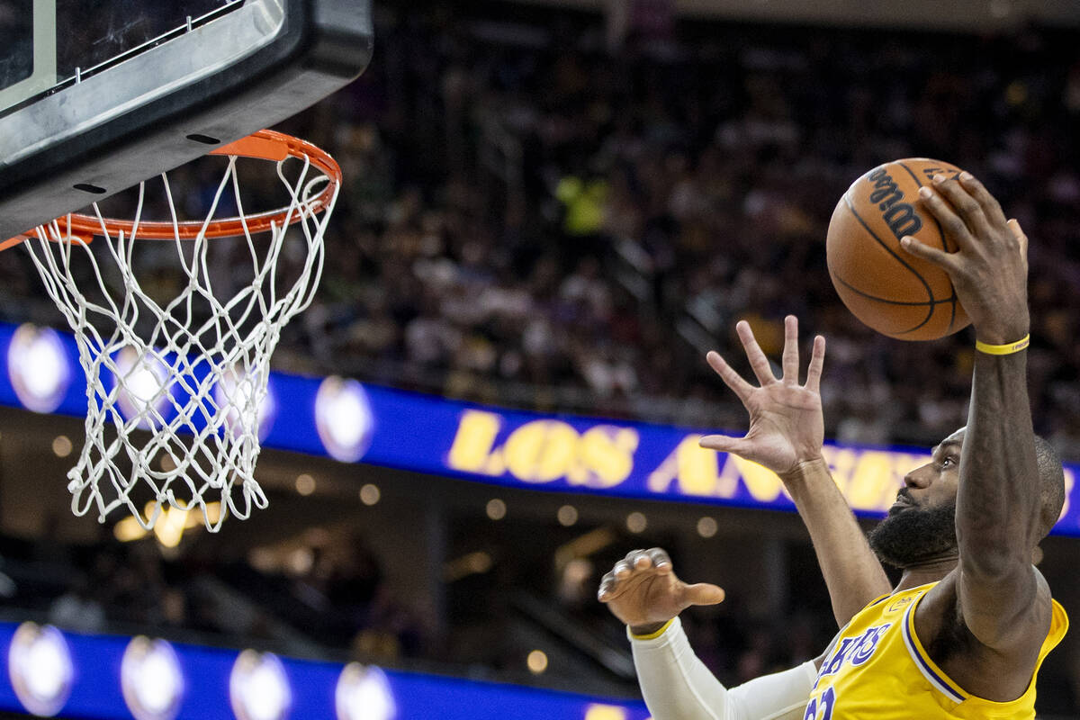
[[[0,113],[0,240],[281,122],[370,60],[370,0],[229,1]]]

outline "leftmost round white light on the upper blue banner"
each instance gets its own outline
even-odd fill
[[[71,383],[71,368],[59,334],[30,323],[19,325],[8,348],[8,377],[28,410],[53,412]]]

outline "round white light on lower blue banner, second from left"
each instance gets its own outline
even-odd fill
[[[184,699],[184,674],[164,640],[132,638],[120,664],[124,703],[135,720],[173,720]]]

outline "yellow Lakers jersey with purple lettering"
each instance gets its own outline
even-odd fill
[[[1030,720],[1035,679],[1018,698],[995,703],[964,692],[930,658],[915,635],[915,608],[936,583],[889,595],[863,608],[821,665],[805,720]],[[1035,665],[1065,636],[1068,617],[1053,602],[1050,633]]]

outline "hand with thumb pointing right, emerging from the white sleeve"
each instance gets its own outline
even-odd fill
[[[687,585],[675,576],[667,553],[660,547],[636,549],[600,579],[596,597],[635,635],[648,635],[696,604],[724,601],[716,585]]]

